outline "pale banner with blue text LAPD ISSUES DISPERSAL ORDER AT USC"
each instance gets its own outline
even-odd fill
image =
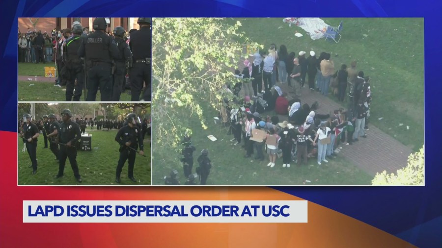
[[[307,223],[306,200],[24,200],[24,223]]]

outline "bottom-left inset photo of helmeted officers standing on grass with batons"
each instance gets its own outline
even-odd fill
[[[18,185],[151,185],[150,103],[19,103]]]

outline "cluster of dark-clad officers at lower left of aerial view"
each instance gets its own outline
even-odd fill
[[[196,179],[199,178],[199,182],[201,185],[205,185],[207,181],[207,177],[210,174],[210,169],[212,168],[211,161],[209,159],[209,150],[202,149],[201,155],[199,155],[197,161],[199,166],[195,168],[195,173],[192,174],[193,168],[193,151],[196,148],[192,145],[191,136],[185,135],[181,145],[183,145],[183,149],[181,150],[181,162],[183,163],[184,176],[187,178],[184,185],[197,185],[195,182]],[[177,179],[178,171],[172,170],[170,172],[170,176],[165,176],[165,184],[166,185],[179,185],[180,182]]]

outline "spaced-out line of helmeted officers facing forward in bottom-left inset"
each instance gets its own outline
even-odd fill
[[[50,149],[55,155],[55,159],[59,161],[58,174],[55,178],[60,178],[64,175],[64,166],[66,159],[69,158],[72,171],[78,182],[83,179],[79,173],[77,164],[77,144],[81,140],[81,131],[79,124],[73,122],[72,112],[69,109],[61,111],[62,123],[56,121],[55,114],[47,116],[50,120],[50,133],[47,134],[50,140]],[[32,118],[29,114],[23,115],[23,127],[20,130],[20,137],[26,144],[29,158],[31,160],[32,174],[37,173],[37,142],[40,135],[37,125],[32,123]],[[115,136],[115,141],[120,145],[120,156],[116,168],[115,181],[121,182],[120,175],[122,168],[127,160],[129,160],[128,177],[133,182],[137,182],[134,177],[134,165],[136,153],[144,156],[144,146],[141,131],[137,124],[140,124],[139,118],[132,113],[126,116],[126,123],[120,128]],[[139,147],[139,150],[138,150]]]

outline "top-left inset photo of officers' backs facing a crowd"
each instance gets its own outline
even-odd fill
[[[151,101],[152,18],[19,18],[18,101]]]

